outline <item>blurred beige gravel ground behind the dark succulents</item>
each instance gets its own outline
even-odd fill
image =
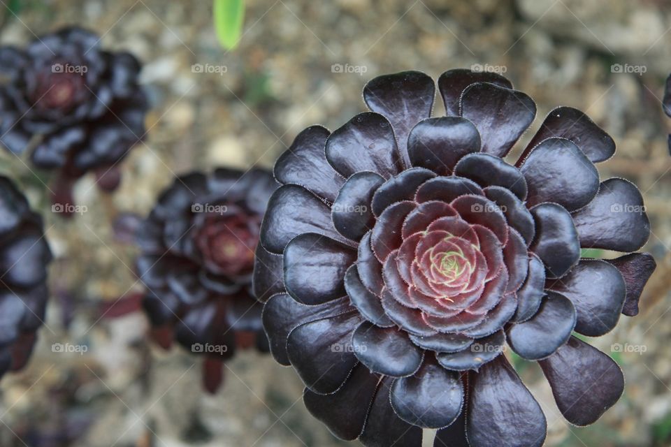
[[[146,144],[123,163],[121,188],[101,196],[85,177],[75,194],[86,211],[70,221],[50,212],[47,174],[0,154],[0,173],[17,178],[46,214],[57,255],[33,359],[0,384],[1,446],[347,445],[305,410],[291,369],[243,353],[226,365],[219,393],[205,395],[199,362],[148,344],[140,312],[104,314],[123,296],[132,306],[140,290],[136,251],[115,240],[111,223],[122,212],[147,212],[175,173],[272,166],[306,126],[335,129],[363,111],[361,89],[376,75],[417,69],[435,78],[476,64],[531,95],[539,117],[570,105],[603,126],[618,152],[600,165],[602,177],[636,182],[653,228],[646,248],[659,267],[641,314],[594,341],[625,370],[618,404],[589,428],[570,427],[540,369],[516,363],[547,413],[547,445],[671,445],[671,120],[660,103],[671,66],[670,1],[247,0],[233,52],[217,45],[206,0],[26,0],[17,17],[6,2],[17,3],[0,1],[1,44],[64,24],[88,27],[106,47],[143,61],[153,108]],[[54,344],[85,352],[54,352]]]

